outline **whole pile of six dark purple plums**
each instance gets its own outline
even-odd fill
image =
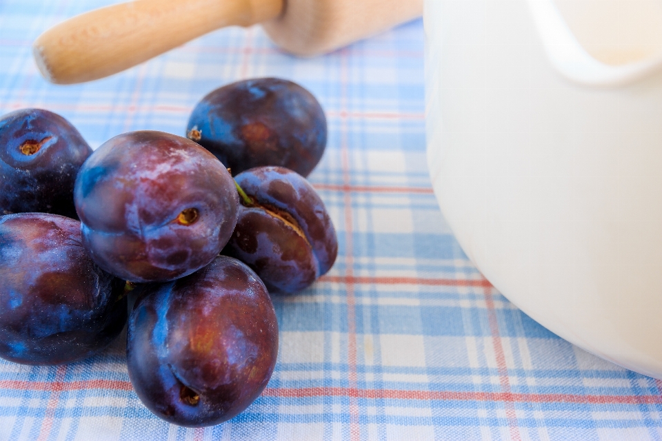
[[[0,357],[82,360],[128,321],[139,398],[199,427],[263,391],[278,351],[270,293],[311,285],[338,245],[304,177],[326,143],[310,92],[225,85],[186,135],[129,132],[92,152],[52,112],[0,119]]]

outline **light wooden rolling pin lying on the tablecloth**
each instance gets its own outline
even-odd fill
[[[33,50],[46,79],[82,83],[225,26],[262,23],[281,48],[310,56],[422,12],[423,0],[135,0],[59,23],[34,41]]]

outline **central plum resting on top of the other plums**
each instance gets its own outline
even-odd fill
[[[228,242],[239,205],[217,158],[154,131],[103,143],[81,167],[74,201],[92,259],[138,283],[174,280],[210,263]]]

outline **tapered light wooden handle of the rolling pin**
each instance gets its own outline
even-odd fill
[[[229,25],[277,17],[283,0],[136,0],[73,17],[34,42],[34,59],[58,84],[103,78]]]

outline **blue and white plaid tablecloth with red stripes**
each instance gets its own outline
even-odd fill
[[[297,81],[328,115],[310,180],[339,256],[312,288],[274,297],[279,361],[234,420],[184,429],[153,416],[132,390],[122,336],[73,365],[0,361],[0,440],[662,439],[661,382],[537,325],[444,223],[425,165],[421,21],[315,59],[231,28],[109,79],[46,83],[32,40],[107,3],[0,0],[0,113],[52,110],[97,147],[129,130],[183,135],[194,104],[231,81]]]

